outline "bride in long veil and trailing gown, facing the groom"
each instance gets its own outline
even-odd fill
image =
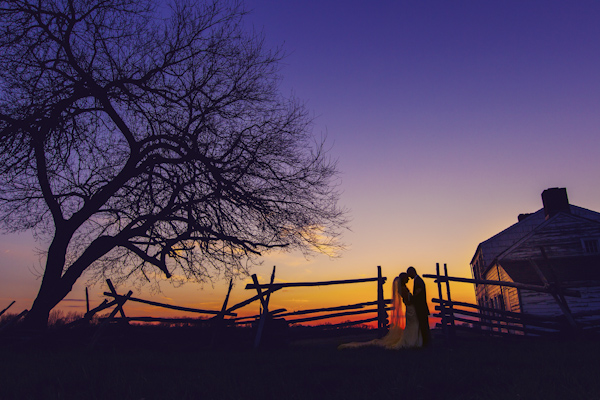
[[[386,349],[404,349],[423,346],[423,337],[419,329],[417,312],[412,303],[412,294],[406,287],[408,275],[402,272],[394,279],[392,284],[392,315],[390,318],[390,330],[381,339],[373,339],[368,342],[344,343],[338,346],[339,350],[364,347],[381,346]],[[406,325],[402,325],[402,304],[406,307]]]

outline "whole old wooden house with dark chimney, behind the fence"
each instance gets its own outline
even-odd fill
[[[503,311],[563,316],[583,327],[600,318],[600,213],[569,204],[564,188],[545,190],[542,203],[540,210],[519,215],[516,224],[479,244],[471,261],[473,278],[546,285],[581,296],[477,284],[477,302]]]

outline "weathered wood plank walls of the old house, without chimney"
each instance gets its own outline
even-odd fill
[[[529,218],[524,221],[528,221]],[[560,279],[561,283],[581,293],[579,298],[566,297],[566,300],[571,313],[582,327],[586,324],[598,326],[600,281],[597,281],[598,274],[593,271],[600,268],[596,261],[600,254],[600,224],[595,219],[565,213],[556,214],[547,221],[537,223],[539,225],[530,232],[522,232],[521,239],[509,235],[514,230],[512,228],[497,235],[510,236],[515,241],[512,245],[507,243],[504,251],[494,255],[495,261],[487,265],[483,263],[486,259],[484,250],[490,241],[481,243],[471,262],[474,277],[479,278],[477,275],[483,275],[481,278],[486,280],[542,285],[542,280],[534,272],[535,267],[530,265],[534,263],[540,270],[544,270],[548,280]],[[572,260],[572,263],[568,260]],[[479,305],[500,310],[547,317],[563,315],[551,294],[496,285],[477,285],[476,297]],[[579,313],[590,315],[578,316]]]

